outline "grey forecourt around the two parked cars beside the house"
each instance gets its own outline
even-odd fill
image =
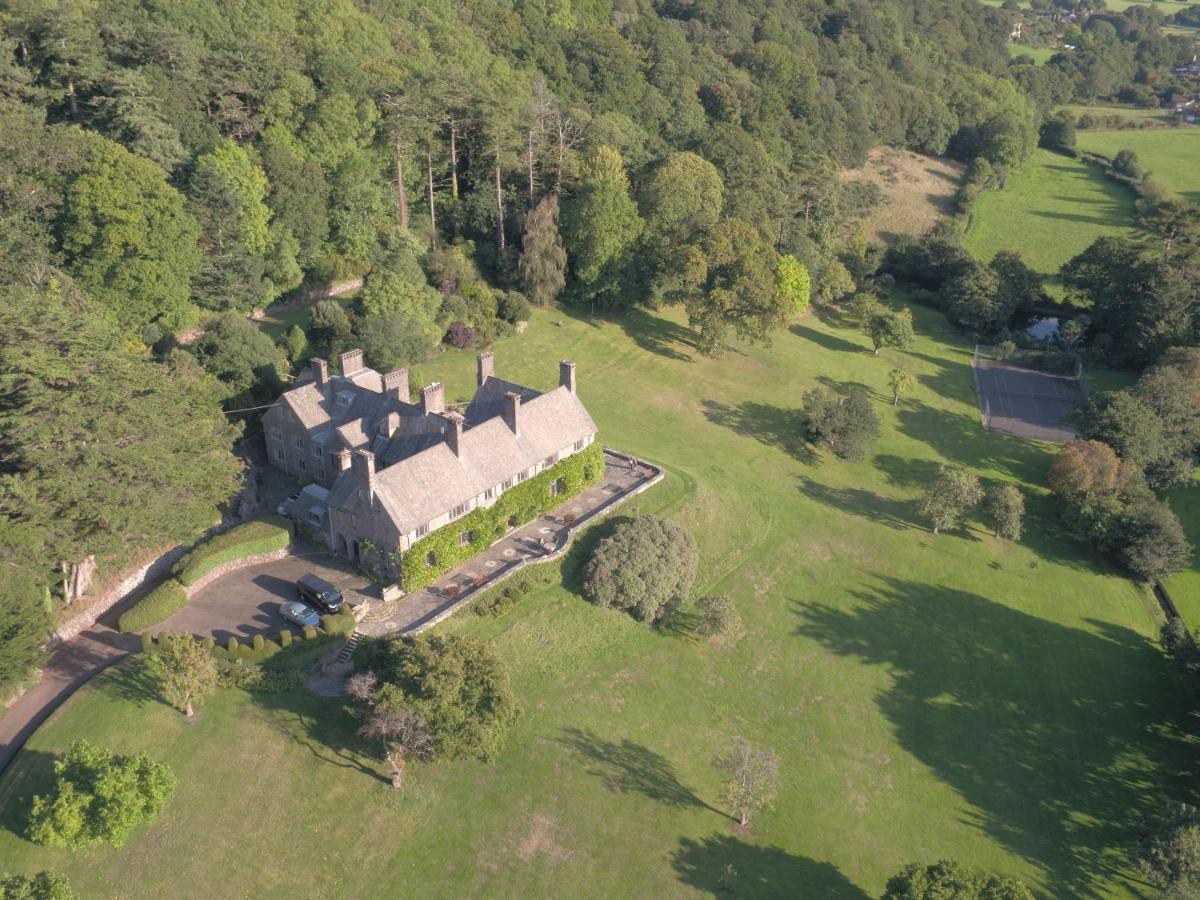
[[[187,606],[150,631],[190,631],[224,641],[278,634],[287,623],[280,604],[296,599],[296,578],[312,572],[337,587],[348,604],[371,595],[371,583],[332,553],[305,551],[224,575],[192,596]]]

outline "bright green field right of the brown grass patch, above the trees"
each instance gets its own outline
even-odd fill
[[[1036,150],[1003,190],[979,197],[965,244],[984,262],[1001,250],[1020,251],[1030,266],[1056,275],[1097,238],[1129,233],[1133,211],[1133,193],[1097,168]]]

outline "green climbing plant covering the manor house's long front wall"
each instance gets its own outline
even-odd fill
[[[594,443],[504,492],[493,505],[474,509],[416,541],[400,562],[401,586],[404,590],[420,590],[460,563],[487,550],[505,535],[510,522],[524,524],[566,503],[601,478],[604,448]],[[551,493],[551,485],[559,479],[563,480],[563,490]],[[458,542],[463,532],[470,532],[467,544]],[[434,559],[432,565],[427,562],[430,554]]]

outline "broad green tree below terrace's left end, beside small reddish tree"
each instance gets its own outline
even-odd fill
[[[397,689],[402,704],[424,716],[437,758],[496,758],[520,712],[503,662],[474,638],[364,640],[354,667]]]

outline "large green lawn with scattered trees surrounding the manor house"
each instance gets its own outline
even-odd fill
[[[748,636],[722,649],[686,619],[653,631],[560,587],[451,619],[494,641],[523,714],[494,764],[416,766],[402,794],[337,701],[224,691],[188,725],[136,670],[113,671],[0,782],[4,868],[60,869],[86,898],[864,900],[906,863],[949,857],[1048,896],[1145,896],[1128,851],[1140,816],[1193,784],[1193,697],[1153,643],[1153,601],[1061,536],[1032,487],[1051,449],[983,431],[970,348],[914,312],[905,354],[806,319],[720,360],[673,314],[540,312],[499,342],[498,373],[550,386],[558,359],[577,361],[605,443],[667,468],[622,515],[689,527],[698,590],[727,594]],[[919,384],[892,407],[900,360]],[[470,354],[428,368],[448,400],[468,395]],[[798,442],[817,384],[871,392],[883,434],[868,458]],[[1026,539],[930,534],[913,499],[942,462],[1031,486]],[[779,799],[748,832],[712,768],[737,734],[781,760]],[[77,736],[179,776],[121,851],[22,836]]]

